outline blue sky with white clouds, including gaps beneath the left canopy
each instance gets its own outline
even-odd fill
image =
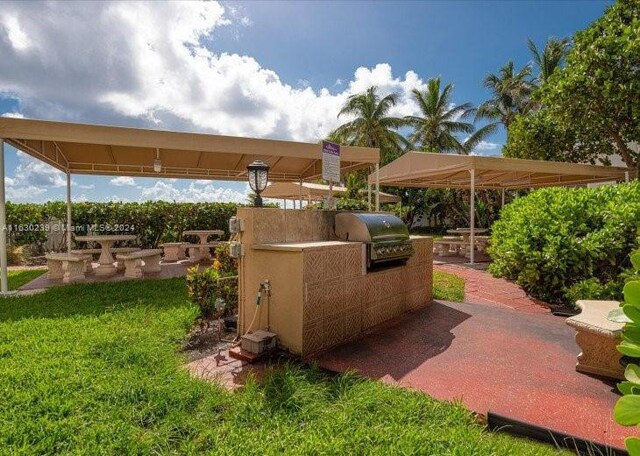
[[[531,60],[527,38],[571,36],[611,1],[2,2],[0,115],[317,142],[348,96],[428,79],[453,102]],[[475,150],[499,154],[504,131]],[[11,147],[14,202],[64,200],[65,176]],[[73,176],[74,201],[236,201],[239,182]]]

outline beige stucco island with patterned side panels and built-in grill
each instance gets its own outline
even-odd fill
[[[432,302],[432,238],[393,214],[244,207],[237,218],[240,334],[266,330],[305,357]]]

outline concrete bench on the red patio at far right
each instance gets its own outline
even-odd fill
[[[621,341],[624,323],[607,317],[619,307],[618,301],[586,301],[576,303],[582,312],[567,318],[567,324],[577,331],[576,343],[582,350],[576,370],[585,374],[624,379],[620,364],[622,354],[616,349]]]

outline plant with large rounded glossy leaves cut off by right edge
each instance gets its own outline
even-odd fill
[[[631,255],[631,263],[637,273],[640,272],[640,250]],[[622,330],[618,351],[632,358],[640,358],[640,279],[629,280],[623,293],[622,311],[627,323]],[[618,385],[623,396],[616,402],[614,416],[624,426],[636,426],[640,424],[640,366],[628,364],[624,376],[626,381]],[[640,455],[640,438],[628,437],[625,445],[631,456]]]

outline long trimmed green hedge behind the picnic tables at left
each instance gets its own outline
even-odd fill
[[[176,241],[188,229],[218,229],[228,234],[228,220],[236,213],[234,203],[73,203],[73,226],[77,234],[86,234],[87,228],[97,225],[95,234],[114,234],[109,228],[127,228],[117,234],[134,234],[136,243],[143,248],[155,247],[162,242]],[[46,240],[45,222],[52,218],[66,221],[67,207],[63,202],[44,204],[7,203],[7,225],[12,243],[40,245]],[[100,229],[100,225],[104,225]],[[16,229],[17,228],[17,229]]]

